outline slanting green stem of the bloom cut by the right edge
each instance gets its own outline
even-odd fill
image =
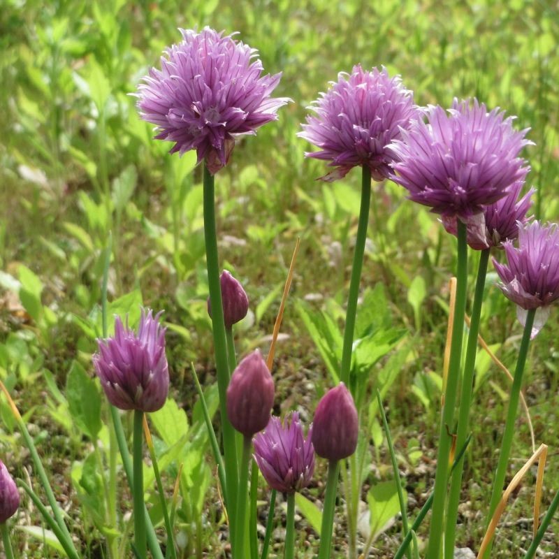
[[[487,516],[487,525],[491,522],[493,513],[499,504],[502,496],[502,488],[504,486],[504,478],[507,477],[507,466],[509,465],[509,456],[511,455],[512,440],[514,438],[514,423],[516,422],[516,412],[518,410],[518,399],[522,387],[522,376],[524,373],[524,365],[528,356],[528,346],[530,345],[530,335],[532,334],[532,326],[534,326],[535,309],[530,309],[526,316],[524,333],[520,349],[518,350],[518,361],[516,361],[516,369],[514,370],[514,380],[512,382],[511,395],[509,398],[509,409],[507,410],[507,421],[504,423],[504,433],[502,435],[501,451],[497,470],[495,470],[495,479],[493,480],[493,490],[491,493],[491,502],[489,504],[489,514]],[[490,542],[484,555],[488,558],[491,555]]]

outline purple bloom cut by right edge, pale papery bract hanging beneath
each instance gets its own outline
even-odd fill
[[[559,230],[557,224],[519,224],[518,248],[503,243],[508,264],[493,259],[502,292],[518,305],[518,319],[525,323],[526,311],[537,309],[532,337],[549,317],[549,305],[559,299]]]

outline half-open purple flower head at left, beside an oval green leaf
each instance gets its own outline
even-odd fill
[[[109,402],[119,409],[155,412],[165,403],[169,370],[160,316],[143,309],[137,335],[116,317],[115,337],[97,340],[95,370]]]

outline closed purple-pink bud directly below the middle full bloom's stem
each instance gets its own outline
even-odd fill
[[[359,422],[354,399],[340,382],[320,400],[312,421],[314,451],[328,460],[341,460],[355,452]]]

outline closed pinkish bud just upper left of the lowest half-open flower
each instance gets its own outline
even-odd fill
[[[273,405],[274,381],[256,349],[233,371],[227,389],[227,415],[236,430],[252,437],[268,425]]]

